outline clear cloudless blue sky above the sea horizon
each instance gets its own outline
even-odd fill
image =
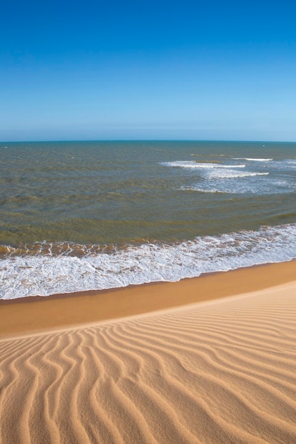
[[[296,140],[295,1],[11,1],[0,140]]]

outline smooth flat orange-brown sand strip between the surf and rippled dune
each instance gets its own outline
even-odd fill
[[[0,337],[49,331],[236,296],[296,280],[296,260],[202,274],[178,282],[0,300]]]

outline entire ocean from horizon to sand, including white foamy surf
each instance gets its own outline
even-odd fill
[[[296,257],[296,143],[0,143],[0,298]]]

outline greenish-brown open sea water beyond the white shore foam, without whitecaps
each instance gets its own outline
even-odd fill
[[[200,170],[162,165],[193,160],[246,163],[234,157],[280,162],[296,158],[292,143],[1,143],[0,153],[4,245],[44,239],[94,244],[174,241],[296,220],[295,170],[270,170],[270,162],[253,162],[248,165],[252,172],[260,169],[268,176],[242,177],[246,186],[237,193],[236,184],[231,193],[223,188],[200,192],[190,189],[192,184],[206,188]],[[223,180],[231,182],[231,177]]]

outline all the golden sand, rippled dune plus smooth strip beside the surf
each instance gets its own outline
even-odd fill
[[[85,314],[100,294],[55,297],[87,321],[48,331],[2,316],[50,305],[1,304],[0,442],[295,444],[295,265],[104,292],[131,305],[104,321]]]

